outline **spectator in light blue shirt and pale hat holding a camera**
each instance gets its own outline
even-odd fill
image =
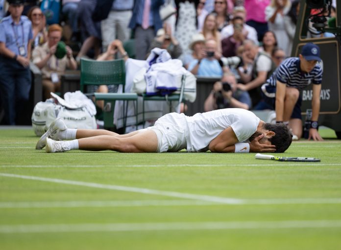
[[[212,39],[207,40],[205,42],[205,57],[199,54],[198,59],[190,63],[188,70],[198,76],[222,77],[223,71],[228,70],[228,68],[220,66],[219,61],[215,57],[217,52],[217,42]]]

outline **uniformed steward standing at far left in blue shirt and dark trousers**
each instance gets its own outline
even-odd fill
[[[4,124],[15,125],[31,88],[32,23],[22,16],[24,0],[7,0],[10,15],[0,21],[0,98]]]

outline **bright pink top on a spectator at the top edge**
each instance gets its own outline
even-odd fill
[[[267,23],[265,20],[265,8],[270,4],[271,0],[245,0],[246,21],[256,21],[259,23]]]

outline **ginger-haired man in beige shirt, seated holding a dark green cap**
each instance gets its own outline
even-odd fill
[[[48,42],[35,47],[32,52],[33,63],[41,69],[44,98],[50,98],[50,92],[60,90],[60,78],[66,68],[76,69],[72,49],[60,42],[62,27],[59,24],[49,25]]]

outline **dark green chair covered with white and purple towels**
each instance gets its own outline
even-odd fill
[[[166,101],[170,105],[170,113],[174,112],[172,111],[171,102],[177,101],[177,102],[184,102],[184,89],[185,89],[185,82],[186,82],[186,75],[182,75],[181,78],[181,87],[180,87],[180,93],[174,93],[174,94],[167,94],[165,96],[163,95],[147,95],[146,93],[143,93],[143,105],[142,105],[142,117],[143,117],[143,126],[145,126],[145,101]]]

